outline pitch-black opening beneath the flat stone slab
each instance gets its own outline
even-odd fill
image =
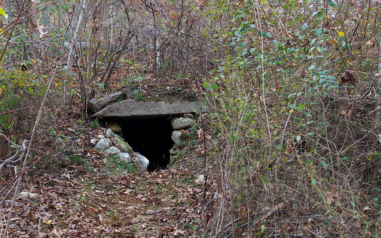
[[[134,152],[139,152],[149,160],[148,170],[165,169],[170,162],[171,119],[156,117],[138,120],[118,121],[122,126],[123,139]]]

